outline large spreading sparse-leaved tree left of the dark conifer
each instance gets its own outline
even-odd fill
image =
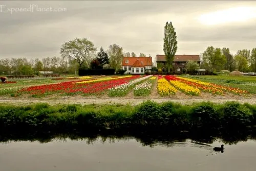
[[[76,38],[61,45],[60,54],[63,58],[74,59],[82,69],[85,64],[89,67],[92,56],[96,52],[94,44],[86,38]]]

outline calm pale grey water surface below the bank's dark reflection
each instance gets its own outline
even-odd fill
[[[190,139],[151,145],[132,137],[10,141],[0,143],[0,170],[255,170],[255,140],[223,144],[224,152],[217,153]]]

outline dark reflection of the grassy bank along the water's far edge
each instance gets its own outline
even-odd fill
[[[52,140],[67,141],[80,140],[87,144],[94,144],[95,142],[101,143],[115,143],[119,141],[129,141],[129,139],[135,139],[140,142],[142,146],[186,146],[187,139],[191,139],[191,146],[203,149],[213,149],[212,143],[218,142],[219,146],[223,144],[237,144],[241,141],[247,141],[249,139],[255,140],[256,135],[248,133],[237,134],[219,134],[219,135],[207,135],[205,133],[179,133],[179,134],[115,134],[115,135],[100,135],[100,134],[27,134],[24,135],[0,135],[0,142],[12,142],[12,141],[39,141],[40,143],[51,142]],[[224,150],[221,150],[224,151]],[[223,153],[223,152],[222,152]]]

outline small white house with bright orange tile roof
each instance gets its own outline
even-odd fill
[[[125,74],[144,74],[152,68],[152,57],[123,57],[122,69]]]

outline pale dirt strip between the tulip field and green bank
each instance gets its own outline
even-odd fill
[[[226,98],[218,98],[215,97],[214,99],[208,99],[208,98],[193,98],[190,99],[173,99],[173,98],[141,98],[141,99],[134,99],[134,98],[123,98],[123,97],[112,97],[112,98],[97,98],[97,97],[82,97],[82,96],[65,96],[65,97],[58,97],[53,99],[15,99],[15,98],[1,98],[0,104],[10,104],[10,105],[30,105],[33,103],[48,103],[50,105],[56,105],[56,104],[130,104],[130,105],[138,105],[142,103],[145,100],[152,100],[157,103],[162,102],[175,102],[175,103],[181,103],[181,104],[192,104],[192,103],[198,103],[202,101],[210,101],[214,103],[225,103],[227,101],[237,101],[239,103],[249,103],[249,104],[256,104],[256,97],[251,98],[245,98],[240,97],[240,99],[226,99]]]

